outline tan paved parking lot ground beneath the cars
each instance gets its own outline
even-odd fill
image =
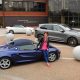
[[[15,34],[16,38],[35,40],[34,35],[26,34]],[[4,42],[4,37],[0,38],[0,44]],[[50,44],[61,50],[60,59],[50,63],[50,67],[43,61],[0,69],[0,80],[80,80],[80,62],[73,58],[73,47],[54,42]]]

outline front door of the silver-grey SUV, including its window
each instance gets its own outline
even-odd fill
[[[53,41],[64,42],[66,36],[64,29],[60,25],[53,25],[53,30],[50,32],[50,37]]]

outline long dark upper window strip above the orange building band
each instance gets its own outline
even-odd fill
[[[32,1],[5,1],[5,11],[26,11],[26,12],[45,12],[45,2],[32,2]]]

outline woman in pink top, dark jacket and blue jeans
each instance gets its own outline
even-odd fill
[[[40,39],[38,46],[40,45],[40,49],[44,54],[44,59],[49,66],[48,62],[48,47],[49,47],[49,40],[48,40],[48,32],[44,32],[44,36]]]

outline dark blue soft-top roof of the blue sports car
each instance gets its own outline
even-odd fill
[[[29,39],[16,39],[11,42],[13,46],[32,45],[33,41]]]

